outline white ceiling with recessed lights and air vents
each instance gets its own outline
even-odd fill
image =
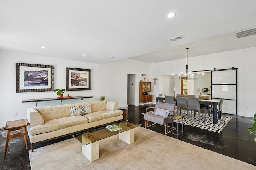
[[[0,0],[0,50],[102,64],[181,59],[187,47],[188,57],[256,47],[256,35],[234,36],[256,27],[255,7],[256,0]]]

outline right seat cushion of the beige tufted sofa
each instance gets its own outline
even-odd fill
[[[122,110],[115,110],[115,111],[104,110],[104,111],[97,111],[97,112],[88,113],[88,114],[83,115],[83,116],[87,117],[89,119],[89,122],[92,122],[92,121],[99,121],[99,120],[102,120],[102,119],[107,119],[107,118],[110,118],[110,117],[120,116],[122,114],[123,114]]]

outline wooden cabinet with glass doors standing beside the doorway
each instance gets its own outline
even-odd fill
[[[151,82],[140,81],[140,103],[153,102],[153,95],[151,92]]]

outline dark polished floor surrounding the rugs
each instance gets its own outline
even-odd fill
[[[128,120],[139,123],[144,127],[145,122],[141,113],[145,112],[146,107],[154,107],[154,104],[128,106]],[[256,143],[254,142],[254,136],[250,135],[248,131],[244,131],[247,127],[251,127],[253,119],[249,117],[229,116],[232,116],[232,119],[221,133],[214,133],[184,125],[184,136],[179,135],[178,139],[256,166]],[[154,125],[149,129],[164,134],[164,127],[161,125]],[[175,135],[169,136],[176,138]],[[0,170],[29,170],[30,162],[24,138],[18,137],[10,139],[7,154],[3,156],[5,137],[6,131],[0,129],[0,152],[2,152],[2,156],[0,156]],[[71,137],[72,136],[55,139],[47,143],[36,145],[35,148],[50,145]],[[28,144],[30,150],[31,146],[29,140]],[[216,166],[218,166],[218,162],[216,162]]]

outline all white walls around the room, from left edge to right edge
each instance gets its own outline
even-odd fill
[[[238,115],[253,117],[256,111],[254,96],[256,96],[256,47],[228,51],[211,55],[188,58],[189,71],[210,70],[213,68],[238,68]],[[84,99],[84,102],[99,100],[100,96],[106,96],[107,100],[118,101],[120,107],[127,106],[127,74],[136,75],[135,104],[139,105],[139,81],[141,74],[147,74],[152,83],[153,103],[159,93],[159,76],[186,70],[186,59],[167,61],[161,63],[144,63],[131,59],[124,59],[107,64],[93,64],[73,60],[56,59],[45,56],[29,55],[25,53],[0,51],[0,127],[4,127],[6,121],[26,118],[26,110],[35,107],[36,104],[22,103],[22,99],[54,98],[55,92],[15,92],[15,63],[31,63],[54,65],[55,88],[66,87],[66,67],[87,68],[92,70],[92,90],[66,92],[70,96],[93,96]],[[161,68],[161,69],[159,69]],[[192,89],[193,90],[193,89]],[[80,99],[65,100],[63,104],[78,103]],[[38,102],[40,106],[58,105],[60,101]],[[18,116],[14,113],[18,112]]]

